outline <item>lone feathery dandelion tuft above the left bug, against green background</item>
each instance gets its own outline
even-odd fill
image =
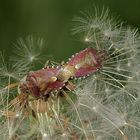
[[[28,36],[25,40],[20,38],[15,44],[15,56],[11,57],[13,62],[31,67],[44,59],[44,41],[41,38]]]

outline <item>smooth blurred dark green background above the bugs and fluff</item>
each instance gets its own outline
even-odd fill
[[[33,35],[45,39],[46,55],[65,60],[84,47],[72,35],[73,17],[94,5],[140,28],[140,0],[0,0],[0,50],[11,55],[19,37]]]

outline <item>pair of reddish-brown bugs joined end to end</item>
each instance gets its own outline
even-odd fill
[[[73,55],[65,64],[31,72],[20,85],[21,92],[40,98],[59,91],[65,88],[71,78],[84,77],[101,69],[103,55],[103,52],[94,48],[86,48]]]

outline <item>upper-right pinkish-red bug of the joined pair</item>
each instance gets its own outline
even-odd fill
[[[83,77],[98,71],[102,67],[103,55],[103,52],[86,48],[73,56],[67,64],[75,67],[74,77]]]

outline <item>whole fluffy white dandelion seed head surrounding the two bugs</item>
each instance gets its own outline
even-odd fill
[[[119,140],[122,139],[122,134],[128,134],[129,139],[139,135],[138,46],[140,42],[137,30],[123,27],[121,22],[109,16],[108,10],[101,11],[101,14],[95,10],[95,15],[83,12],[82,17],[75,18],[75,21],[76,26],[73,31],[84,33],[83,40],[87,42],[87,47],[105,51],[102,68],[83,81],[75,82],[76,88],[70,91],[70,94],[62,88],[63,98],[58,96],[54,99],[52,97],[54,93],[50,93],[51,96],[47,100],[34,99],[35,109],[31,104],[31,98],[26,100],[26,105],[21,105],[20,108],[17,107],[20,104],[18,102],[14,105],[10,104],[10,101],[21,93],[20,90],[14,89],[14,92],[11,89],[0,90],[0,110],[9,109],[9,114],[15,115],[14,120],[9,119],[10,121],[3,119],[4,116],[0,115],[2,120],[0,130],[6,128],[10,138],[14,139],[14,135],[18,137],[22,135],[21,139],[23,136],[27,136],[27,139],[40,139],[42,135],[44,140],[59,138],[85,140],[93,139],[93,136],[97,140]],[[8,77],[10,80],[12,78],[24,83],[30,65],[40,61],[42,57],[42,39],[32,37],[25,40],[19,39],[16,46],[17,55],[10,62],[18,62],[15,65],[12,63],[12,66],[0,64],[0,78],[2,77],[0,82],[2,83],[3,79],[7,80]],[[4,62],[3,59],[1,62]],[[9,83],[11,83],[10,80]],[[53,81],[56,80],[55,77]],[[58,93],[58,91],[55,92]],[[41,107],[39,100],[47,104],[46,108],[49,106],[45,113],[35,111]],[[31,109],[32,113],[29,111],[26,114],[28,109]],[[25,117],[24,114],[27,116]],[[73,130],[74,133],[72,133]],[[2,131],[0,137],[3,134]]]

